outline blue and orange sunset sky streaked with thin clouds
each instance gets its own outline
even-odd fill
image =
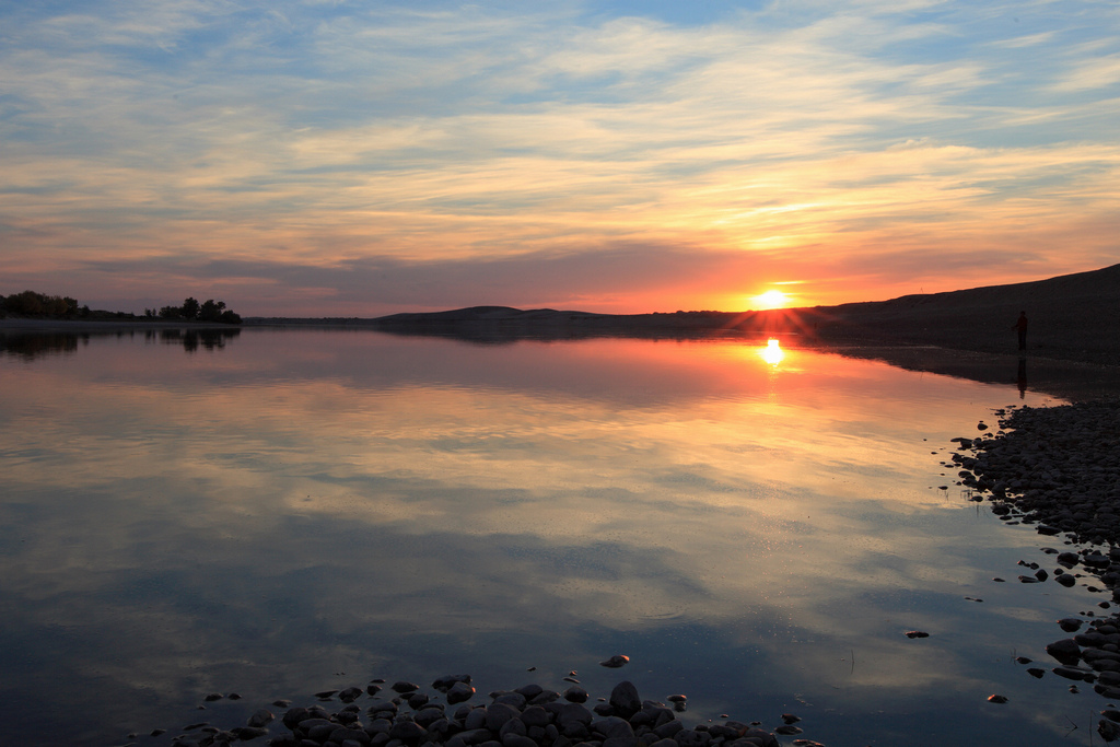
[[[0,0],[3,295],[738,311],[1117,262],[1114,0]]]

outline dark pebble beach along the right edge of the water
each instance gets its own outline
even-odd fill
[[[1051,665],[1019,663],[1030,676],[1085,683],[1111,701],[1096,731],[1113,741],[1120,738],[1113,706],[1120,702],[1120,400],[997,415],[995,433],[955,439],[961,484],[1008,525],[1033,525],[1061,543],[1042,548],[1043,562],[1020,561],[1018,582],[1080,586],[1101,597],[1096,609],[1055,622],[1064,635],[1045,647]],[[983,422],[978,428],[988,431]]]

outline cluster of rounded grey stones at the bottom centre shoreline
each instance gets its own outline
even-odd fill
[[[776,719],[781,726],[772,730],[760,728],[760,721],[745,723],[726,716],[721,722],[688,727],[676,718],[687,710],[685,695],[670,695],[672,706],[643,700],[629,681],[616,684],[609,698],[596,698],[594,707],[585,706],[591,695],[578,684],[561,693],[530,683],[491,692],[489,702],[482,703],[475,700],[469,674],[438,678],[430,687],[433,692],[404,680],[385,689],[385,682],[377,678],[366,685],[320,692],[317,702],[306,708],[289,700],[273,701],[253,711],[244,726],[222,729],[206,721],[192,723],[171,737],[171,745],[207,747],[271,737],[272,747],[780,747],[776,735],[802,734],[794,726],[801,719],[792,713],[781,715]],[[205,697],[206,702],[222,699],[241,698],[236,693]],[[151,736],[164,734],[167,730],[160,728]],[[129,738],[139,736],[134,732]]]

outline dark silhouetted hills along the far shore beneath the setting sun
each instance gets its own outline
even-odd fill
[[[1030,319],[1028,354],[1120,365],[1120,264],[1034,282],[773,311],[594,314],[473,306],[375,319],[250,318],[245,324],[374,328],[498,344],[526,338],[795,335],[808,344],[935,345],[1016,355],[1011,325],[1019,311]]]

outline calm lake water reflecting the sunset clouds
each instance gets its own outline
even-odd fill
[[[1014,659],[1053,666],[1054,620],[1100,597],[993,582],[1061,539],[942,464],[993,409],[1060,402],[762,339],[9,340],[0,743],[576,670],[829,747],[1089,744],[1103,700]],[[243,699],[196,711],[213,691]]]

